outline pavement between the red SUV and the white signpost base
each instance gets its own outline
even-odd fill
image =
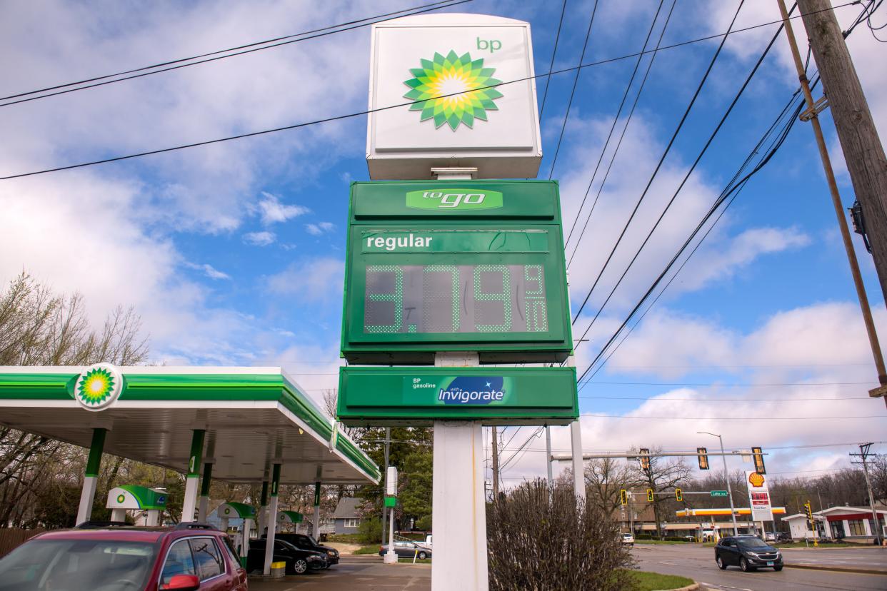
[[[382,564],[379,556],[342,556],[326,571],[249,579],[250,591],[431,591],[431,564]]]

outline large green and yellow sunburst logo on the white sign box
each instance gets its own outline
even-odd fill
[[[435,128],[444,123],[455,131],[459,125],[475,127],[475,120],[487,121],[487,111],[498,111],[494,102],[502,93],[494,88],[501,84],[492,75],[496,68],[483,67],[483,58],[458,56],[450,51],[444,57],[435,53],[432,60],[421,59],[421,67],[411,68],[412,78],[404,81],[410,87],[404,97],[418,101],[410,111],[421,111],[420,121],[435,120]]]

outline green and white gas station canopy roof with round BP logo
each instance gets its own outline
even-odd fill
[[[0,424],[82,447],[106,429],[105,453],[177,471],[188,468],[193,430],[205,430],[216,479],[260,482],[279,463],[281,484],[379,481],[375,463],[280,368],[102,364],[93,381],[115,390],[90,395],[94,371],[0,366]]]

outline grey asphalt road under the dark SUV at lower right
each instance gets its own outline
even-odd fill
[[[635,545],[632,555],[643,571],[676,574],[694,579],[703,587],[725,591],[770,591],[785,589],[887,589],[887,573],[883,575],[853,572],[812,571],[784,568],[781,572],[764,569],[742,572],[737,567],[726,571],[715,564],[714,548],[702,546],[655,546]],[[782,553],[786,564],[835,564],[855,568],[880,568],[887,570],[887,551],[877,548],[848,548],[833,550],[789,549]],[[839,564],[840,561],[844,564]]]

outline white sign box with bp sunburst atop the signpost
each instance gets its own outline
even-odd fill
[[[522,20],[432,14],[373,25],[370,178],[428,179],[432,167],[535,177],[542,149],[532,55]]]

